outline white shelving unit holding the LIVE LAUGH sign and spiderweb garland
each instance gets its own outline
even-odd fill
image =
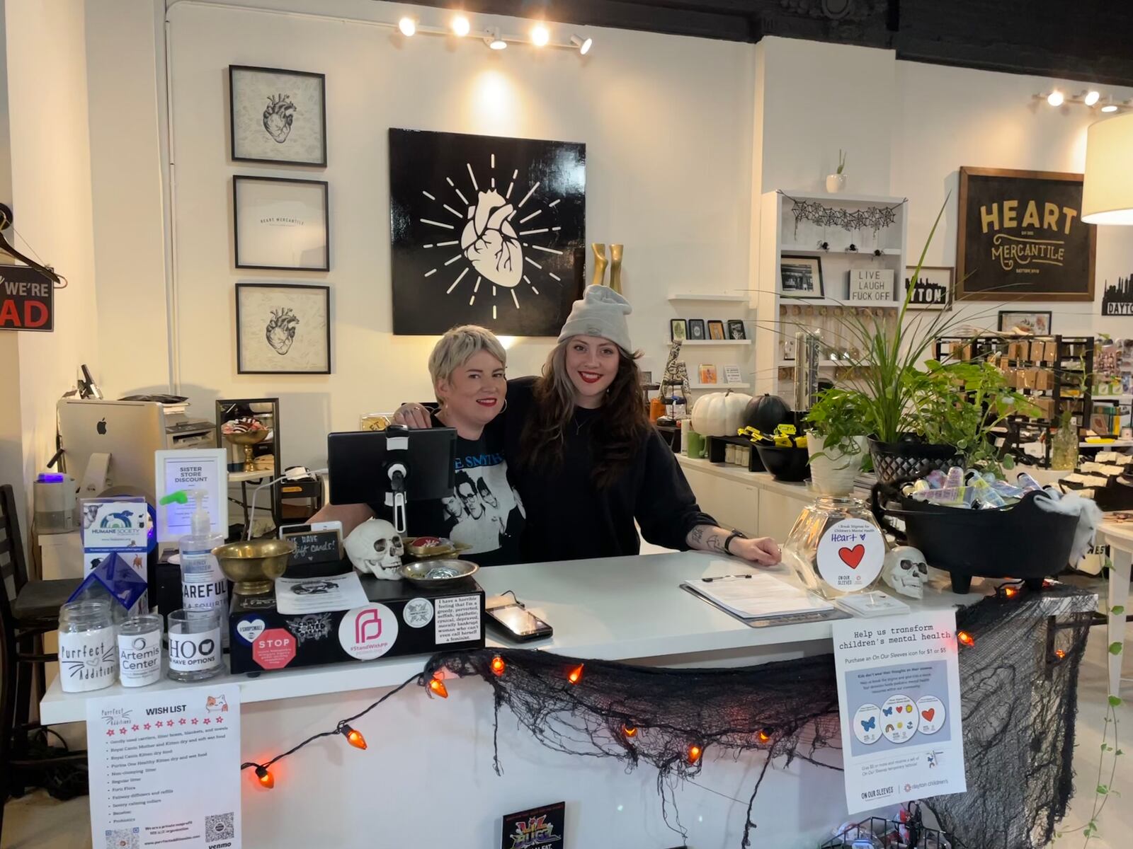
[[[813,205],[829,212],[823,217],[858,222],[892,217],[875,231],[870,223],[846,230],[841,224],[815,223],[815,216],[803,213],[795,216],[795,205]],[[869,310],[875,320],[896,331],[902,297],[904,295],[905,241],[909,209],[904,198],[880,195],[830,195],[821,191],[783,189],[767,191],[760,197],[759,261],[756,267],[753,301],[756,323],[760,329],[755,337],[755,392],[791,397],[794,376],[794,335],[798,331],[815,331],[828,344],[849,348],[845,320],[853,314]],[[877,215],[878,211],[892,209]],[[825,242],[827,249],[821,248]],[[855,250],[850,250],[853,245]],[[875,254],[879,251],[879,254]],[[800,297],[783,292],[784,257],[800,257],[794,280],[812,286]],[[818,272],[818,278],[815,278]],[[855,278],[875,278],[874,294],[879,300],[850,300],[851,273]],[[892,289],[885,285],[892,273]],[[885,285],[878,291],[877,278]],[[859,284],[864,289],[864,283]],[[861,291],[859,293],[862,293]],[[845,367],[826,360],[820,367]]]

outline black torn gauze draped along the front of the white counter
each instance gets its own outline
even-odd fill
[[[1094,606],[1093,594],[1056,584],[957,611],[957,628],[976,637],[960,652],[968,792],[926,800],[954,846],[1038,849],[1053,838],[1073,792],[1077,672]],[[572,684],[569,676],[580,666]],[[664,669],[484,649],[434,655],[423,680],[441,669],[492,687],[497,773],[500,709],[506,706],[547,748],[613,757],[627,769],[654,766],[665,821],[682,834],[672,791],[700,773],[708,752],[764,753],[748,801],[744,849],[773,758],[783,758],[784,766],[798,757],[836,769],[816,758],[826,747],[840,747],[833,655]]]

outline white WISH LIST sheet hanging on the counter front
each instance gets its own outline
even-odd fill
[[[86,703],[94,849],[239,849],[240,687]]]

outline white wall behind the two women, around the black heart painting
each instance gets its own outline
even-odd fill
[[[385,20],[398,14],[385,3],[301,6]],[[436,10],[415,12],[443,23]],[[407,41],[356,23],[193,3],[174,6],[170,20],[180,386],[210,414],[218,396],[279,395],[286,462],[317,462],[325,434],[356,427],[360,413],[432,397],[425,361],[435,338],[391,334],[390,127],[585,142],[587,239],[625,245],[630,327],[645,368],[664,363],[675,315],[668,290],[746,285],[750,45],[593,31],[594,51],[580,60],[573,51],[516,45],[496,54],[475,41]],[[526,28],[492,20],[505,32]],[[325,170],[229,162],[230,63],[326,75]],[[233,269],[233,173],[330,181],[329,274]],[[329,378],[236,374],[233,283],[281,278],[332,288]],[[510,374],[537,370],[548,350],[547,340],[517,341]]]

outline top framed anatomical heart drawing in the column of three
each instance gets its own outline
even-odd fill
[[[230,65],[228,105],[233,162],[326,166],[325,75]]]

